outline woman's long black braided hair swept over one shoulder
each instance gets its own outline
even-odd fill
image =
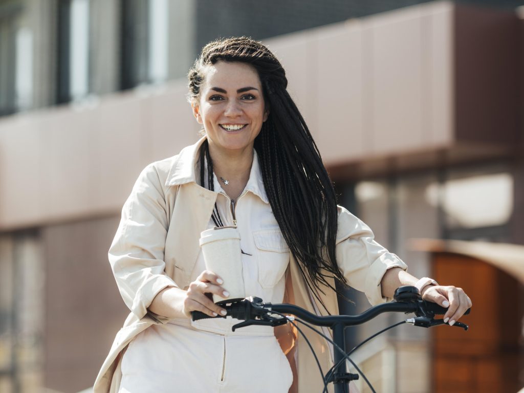
[[[264,187],[282,235],[320,301],[315,289],[324,291],[319,283],[336,291],[325,277],[346,283],[335,257],[336,195],[320,152],[286,90],[282,65],[267,47],[251,38],[219,39],[202,49],[188,74],[190,102],[195,104],[200,98],[206,65],[218,61],[247,63],[258,73],[270,110],[255,138]],[[204,150],[207,148],[205,145]],[[209,154],[206,156],[209,162]],[[203,173],[201,176],[203,179]]]

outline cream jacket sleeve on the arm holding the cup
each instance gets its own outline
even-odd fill
[[[169,221],[161,182],[154,164],[138,177],[122,209],[122,219],[109,250],[118,290],[127,307],[142,319],[156,314],[147,308],[158,292],[177,287],[165,274],[164,249]]]

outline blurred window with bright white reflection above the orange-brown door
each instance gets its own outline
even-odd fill
[[[378,241],[406,254],[411,237],[508,241],[513,177],[504,163],[356,184],[357,212]]]

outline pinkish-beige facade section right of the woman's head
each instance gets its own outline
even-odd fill
[[[452,143],[453,11],[435,2],[267,41],[327,165]]]

